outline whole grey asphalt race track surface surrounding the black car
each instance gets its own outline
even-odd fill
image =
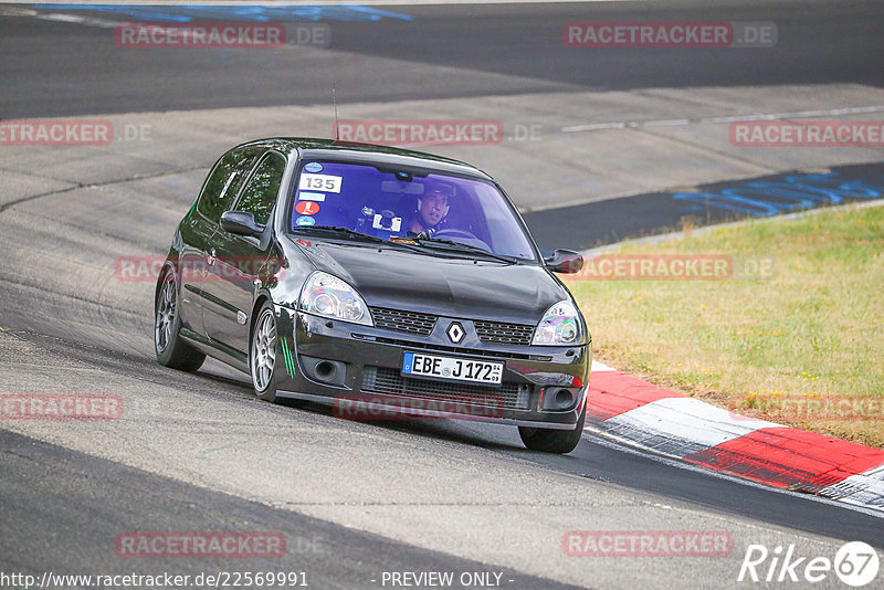
[[[133,17],[125,11],[0,4],[1,119],[94,116],[151,129],[149,140],[102,148],[0,143],[0,392],[124,400],[120,420],[0,423],[0,572],[273,570],[305,572],[311,588],[368,589],[392,587],[385,572],[452,571],[491,572],[454,588],[735,588],[756,586],[737,582],[750,545],[829,559],[850,540],[884,549],[880,515],[589,434],[571,454],[547,456],[526,451],[511,428],[351,422],[317,405],[261,402],[246,376],[214,361],[196,375],[168,370],[152,352],[154,283],[115,273],[118,256],[166,252],[227,147],[271,135],[281,120],[281,134],[328,136],[332,86],[348,117],[496,117],[508,134],[539,125],[536,144],[434,151],[512,187],[547,246],[671,230],[685,214],[705,223],[756,215],[674,198],[751,179],[840,175],[884,186],[881,148],[771,157],[728,147],[718,127],[698,120],[750,108],[880,116],[880,4],[707,4],[326,8],[288,23],[329,23],[328,48],[266,52],[120,50],[113,28]],[[561,25],[588,20],[775,22],[779,43],[565,48]],[[676,117],[686,123],[660,133],[564,130]],[[672,164],[680,159],[683,167]],[[569,187],[540,190],[556,179]],[[733,548],[723,557],[568,557],[569,530],[727,531]],[[115,539],[134,531],[274,531],[286,551],[118,555]],[[843,584],[830,573],[815,587]]]

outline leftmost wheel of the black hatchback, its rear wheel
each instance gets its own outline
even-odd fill
[[[196,371],[202,367],[206,355],[185,343],[180,330],[178,282],[175,272],[169,270],[162,276],[154,302],[154,350],[160,365],[181,371]]]

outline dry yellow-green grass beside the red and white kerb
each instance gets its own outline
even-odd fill
[[[749,221],[618,253],[724,254],[736,273],[724,281],[568,280],[596,358],[740,413],[884,447],[881,411],[833,420],[766,415],[777,405],[759,403],[884,403],[884,207]],[[754,272],[756,262],[772,272]]]

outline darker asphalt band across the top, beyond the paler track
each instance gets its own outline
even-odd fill
[[[15,59],[0,64],[7,83],[3,117],[309,105],[328,102],[333,85],[338,102],[346,104],[578,88],[881,83],[884,39],[874,2],[705,4],[709,2],[649,2],[640,9],[632,2],[387,7],[378,10],[392,15],[379,20],[367,20],[369,14],[365,20],[328,21],[330,48],[360,56],[357,60],[298,52],[219,56],[166,50],[156,59],[150,52],[107,51],[107,31],[98,27],[6,20],[3,52]],[[126,11],[64,12],[126,20]],[[772,21],[780,42],[772,53],[739,50],[714,55],[691,49],[588,55],[561,43],[564,23],[591,20]],[[380,59],[406,63],[365,67]],[[469,73],[451,71],[464,66]],[[219,69],[227,75],[217,75]]]

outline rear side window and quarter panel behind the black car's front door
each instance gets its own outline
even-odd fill
[[[199,198],[179,225],[181,250],[179,275],[181,280],[180,315],[182,324],[200,335],[203,325],[204,286],[208,278],[207,262],[211,240],[218,229],[221,213],[233,203],[245,177],[254,166],[262,148],[244,147],[224,154],[209,173]]]

